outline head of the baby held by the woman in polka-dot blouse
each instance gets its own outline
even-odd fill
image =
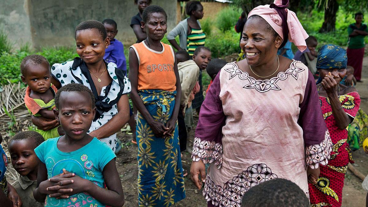
[[[28,55],[21,63],[21,79],[33,92],[45,93],[51,85],[50,63],[42,55]]]

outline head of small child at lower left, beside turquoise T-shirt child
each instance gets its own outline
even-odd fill
[[[9,142],[11,164],[15,171],[30,180],[37,179],[38,159],[35,148],[44,141],[36,131],[22,131],[14,135]]]

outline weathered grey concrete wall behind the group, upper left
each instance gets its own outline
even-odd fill
[[[116,39],[126,44],[136,41],[130,27],[138,13],[133,0],[1,0],[0,23],[13,41],[31,42],[33,47],[74,45],[74,29],[84,20],[117,22]],[[168,16],[168,31],[176,25],[176,0],[153,0]],[[16,19],[14,18],[17,17]],[[4,21],[2,20],[4,19]]]

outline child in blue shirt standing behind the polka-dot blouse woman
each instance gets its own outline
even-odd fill
[[[110,39],[110,45],[105,49],[105,55],[103,59],[106,63],[115,63],[118,69],[124,71],[124,75],[127,74],[127,61],[124,55],[123,43],[115,39],[117,35],[117,24],[112,19],[106,19],[102,21],[103,26],[106,28],[107,37]]]

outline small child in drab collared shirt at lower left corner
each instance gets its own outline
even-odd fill
[[[38,159],[35,148],[45,141],[36,131],[22,131],[15,134],[9,142],[11,164],[21,176],[13,183],[15,190],[22,199],[23,206],[43,207],[33,198],[36,189]]]

